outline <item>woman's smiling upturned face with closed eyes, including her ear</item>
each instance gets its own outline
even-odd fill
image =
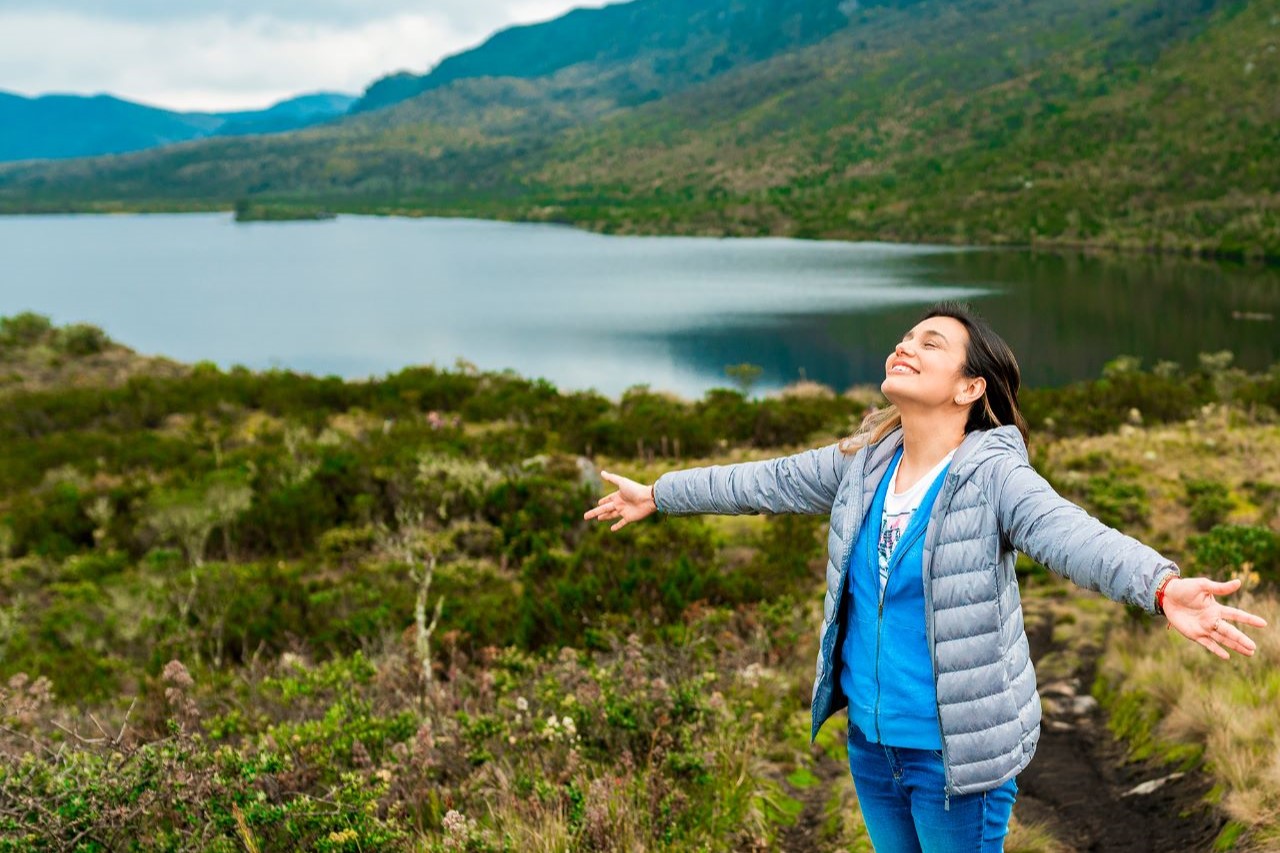
[[[969,332],[960,320],[931,316],[916,323],[884,360],[881,391],[904,407],[968,406],[986,382],[964,375]]]

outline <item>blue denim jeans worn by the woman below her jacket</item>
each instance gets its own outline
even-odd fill
[[[870,743],[849,726],[849,770],[876,853],[995,853],[1005,849],[1012,779],[946,804],[942,753]]]

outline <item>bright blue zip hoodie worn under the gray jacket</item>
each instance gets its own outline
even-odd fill
[[[911,749],[941,749],[933,656],[924,624],[924,530],[950,465],[929,485],[908,521],[888,564],[883,601],[877,544],[884,496],[902,456],[899,447],[881,478],[849,557],[852,597],[841,654],[840,686],[849,716],[872,743]]]

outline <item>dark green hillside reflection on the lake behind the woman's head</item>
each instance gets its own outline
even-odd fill
[[[1194,365],[1201,352],[1231,350],[1236,364],[1254,370],[1280,357],[1280,325],[1256,319],[1280,318],[1275,269],[1025,251],[938,254],[890,266],[931,282],[938,288],[931,296],[968,297],[1009,341],[1029,386],[1097,377],[1119,355],[1148,366]],[[699,373],[750,361],[765,368],[762,386],[808,377],[845,388],[883,378],[884,356],[928,301],[801,313],[768,325],[708,324],[666,341]]]

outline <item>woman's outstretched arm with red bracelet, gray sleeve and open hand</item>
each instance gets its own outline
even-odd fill
[[[997,476],[996,512],[1015,548],[1082,587],[1152,613],[1165,584],[1161,598],[1170,628],[1222,658],[1229,657],[1225,648],[1253,654],[1254,642],[1228,622],[1262,628],[1266,621],[1215,598],[1239,589],[1239,580],[1179,576],[1172,561],[1061,497],[1023,460],[1006,462]]]

